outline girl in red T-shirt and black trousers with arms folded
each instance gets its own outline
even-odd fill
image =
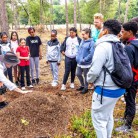
[[[17,52],[18,58],[20,59],[19,67],[21,72],[21,89],[25,90],[24,72],[26,72],[27,86],[29,88],[33,88],[30,81],[30,68],[29,68],[30,51],[29,51],[29,47],[26,46],[25,38],[21,38],[19,42],[20,42],[20,46],[17,48],[16,52]]]

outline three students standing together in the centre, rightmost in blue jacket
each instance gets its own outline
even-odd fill
[[[46,63],[50,64],[53,81],[53,87],[58,85],[58,72],[61,61],[61,53],[65,56],[65,73],[61,90],[66,90],[66,83],[71,73],[70,88],[74,89],[74,80],[77,75],[81,86],[77,89],[81,93],[88,92],[88,82],[86,76],[92,62],[94,53],[94,41],[91,38],[91,30],[86,28],[82,30],[82,39],[78,37],[77,29],[70,28],[70,36],[66,37],[60,46],[57,39],[57,31],[51,31],[51,40],[47,42]],[[84,72],[84,78],[82,76]]]

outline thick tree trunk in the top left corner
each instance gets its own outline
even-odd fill
[[[8,16],[7,16],[5,0],[0,0],[0,20],[1,20],[1,31],[9,34],[9,24],[8,24]]]

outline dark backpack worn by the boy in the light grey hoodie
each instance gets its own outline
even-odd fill
[[[111,75],[113,82],[121,88],[129,88],[133,81],[133,72],[130,60],[121,42],[111,42],[114,58],[114,70],[110,72],[105,66],[105,72]]]

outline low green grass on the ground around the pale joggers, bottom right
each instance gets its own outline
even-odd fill
[[[120,107],[121,111],[120,109],[117,109],[118,108],[116,108],[114,112],[115,118],[118,117],[118,115],[119,117],[122,116],[124,111],[122,110],[122,107]],[[121,126],[122,124],[122,121],[115,122],[114,128]],[[81,116],[73,116],[70,121],[69,129],[72,133],[70,136],[59,136],[56,138],[96,138],[90,110],[85,111]],[[133,132],[124,134],[113,130],[112,138],[138,138],[138,114],[136,114],[133,121]]]

